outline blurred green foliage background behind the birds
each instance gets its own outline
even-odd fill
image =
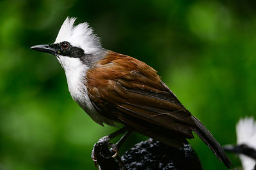
[[[256,108],[255,1],[0,1],[0,169],[95,169],[100,127],[72,101],[53,56],[63,20],[89,22],[104,48],[143,60],[225,145]],[[145,139],[145,138],[143,138]],[[141,140],[134,134],[124,147]],[[205,169],[225,169],[197,137]],[[236,156],[229,155],[235,166]]]

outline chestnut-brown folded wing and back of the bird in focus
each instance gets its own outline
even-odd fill
[[[104,117],[153,138],[161,133],[180,142],[193,138],[191,114],[147,64],[109,52],[88,71],[87,83],[89,97]]]

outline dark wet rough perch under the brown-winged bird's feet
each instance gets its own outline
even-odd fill
[[[108,143],[99,141],[94,145],[95,159],[99,169],[202,169],[195,151],[189,144],[184,148],[172,148],[159,141],[148,139],[134,145],[118,159],[108,149]]]

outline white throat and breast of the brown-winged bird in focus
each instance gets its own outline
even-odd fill
[[[93,107],[92,102],[88,96],[88,90],[86,88],[86,72],[90,69],[84,65],[80,59],[60,56],[57,57],[61,66],[65,70],[67,77],[68,90],[79,106],[98,124],[103,125],[106,123],[113,125],[113,121],[108,118],[102,117],[97,110]]]

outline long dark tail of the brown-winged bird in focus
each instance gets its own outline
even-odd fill
[[[221,162],[225,164],[225,166],[228,168],[233,166],[223,148],[220,146],[220,143],[214,139],[211,132],[209,132],[196,117],[192,116],[192,119],[196,124],[196,129],[194,129],[194,131],[200,137],[200,139],[202,139],[202,141],[204,141],[204,143],[209,146],[212,152]]]

